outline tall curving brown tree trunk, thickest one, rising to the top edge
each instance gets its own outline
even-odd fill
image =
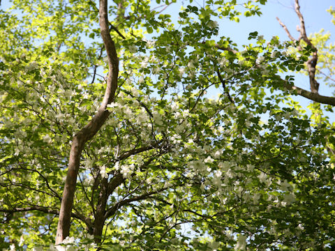
[[[101,0],[99,3],[99,16],[101,37],[105,45],[108,59],[108,76],[103,102],[98,108],[96,115],[73,137],[73,143],[70,150],[68,162],[68,173],[64,185],[63,197],[61,200],[61,209],[59,211],[59,222],[57,226],[56,244],[66,238],[70,233],[71,211],[73,208],[73,198],[75,195],[75,185],[80,166],[80,155],[84,149],[85,143],[96,135],[103,123],[105,123],[110,112],[107,111],[107,105],[114,101],[115,91],[117,90],[117,76],[119,74],[119,59],[115,50],[114,42],[110,36],[107,19],[107,0]],[[107,181],[106,181],[107,182]],[[102,205],[103,206],[103,205]]]

